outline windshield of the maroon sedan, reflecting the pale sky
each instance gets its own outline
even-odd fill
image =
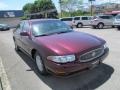
[[[72,31],[71,28],[59,20],[46,20],[33,23],[33,35],[42,36],[56,33],[66,33]]]

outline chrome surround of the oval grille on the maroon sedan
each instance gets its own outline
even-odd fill
[[[81,59],[82,57],[87,56],[87,55],[92,54],[92,53],[97,52],[97,51],[100,51],[100,53],[99,53],[98,55],[96,55],[96,56],[91,56],[92,58],[89,58],[89,59]],[[80,60],[79,60],[79,61],[80,61],[80,62],[89,62],[89,61],[94,60],[95,58],[100,57],[103,53],[104,53],[104,47],[97,48],[97,49],[94,49],[94,50],[92,50],[92,51],[89,51],[89,52],[87,52],[87,53],[82,54],[82,55],[80,56]]]

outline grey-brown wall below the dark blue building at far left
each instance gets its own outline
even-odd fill
[[[8,24],[14,27],[20,23],[20,18],[0,18],[0,24]]]

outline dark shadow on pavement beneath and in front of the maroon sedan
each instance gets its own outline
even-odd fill
[[[42,76],[39,74],[35,62],[22,52],[18,55],[34,71],[36,75],[52,90],[93,90],[104,84],[114,72],[114,69],[106,64],[101,64],[92,70],[84,70],[72,76]]]

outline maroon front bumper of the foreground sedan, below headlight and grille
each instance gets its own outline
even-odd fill
[[[100,57],[92,61],[85,62],[85,63],[72,62],[72,63],[66,63],[66,64],[57,64],[48,60],[47,69],[56,75],[68,75],[74,72],[78,72],[80,70],[94,67],[96,64],[97,65],[100,64],[108,56],[108,53],[109,53],[109,48],[106,48],[103,55],[101,55]]]

